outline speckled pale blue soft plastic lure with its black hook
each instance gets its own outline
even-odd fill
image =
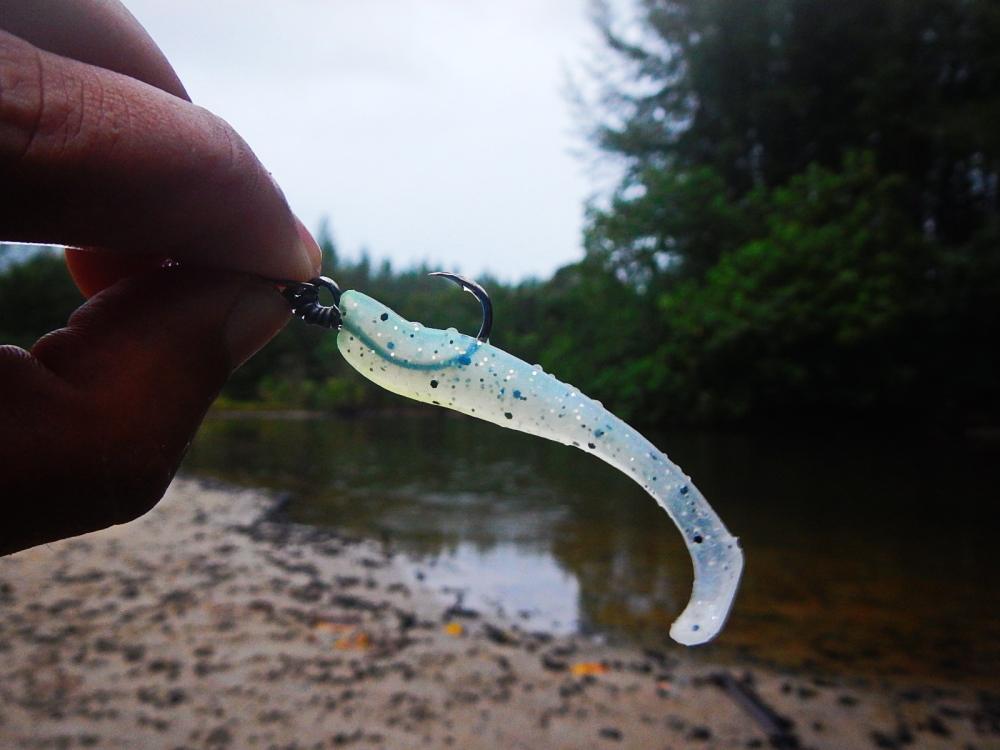
[[[539,365],[492,346],[492,306],[482,287],[455,274],[432,275],[456,282],[479,299],[483,326],[478,336],[405,320],[361,292],[341,294],[325,277],[290,283],[284,294],[298,317],[339,328],[337,347],[344,358],[386,390],[572,445],[640,484],[680,529],[694,564],[691,599],[670,636],[687,646],[714,638],[743,571],[737,538],[677,465],[636,430]],[[319,303],[322,288],[336,304]]]

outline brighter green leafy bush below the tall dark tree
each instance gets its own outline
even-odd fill
[[[670,321],[657,379],[677,394],[662,416],[905,406],[930,259],[897,215],[900,183],[852,156],[754,191],[763,231],[657,299]]]

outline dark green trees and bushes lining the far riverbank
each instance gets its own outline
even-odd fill
[[[596,94],[578,98],[596,153],[624,177],[589,206],[578,263],[545,281],[479,279],[494,343],[646,424],[996,424],[1000,4],[633,11],[597,6],[605,49],[579,87]],[[322,239],[342,286],[476,330],[474,302],[425,276],[435,269],[373,268]],[[26,343],[77,301],[58,260],[10,265],[0,337]],[[225,399],[399,403],[335,349],[289,326]]]

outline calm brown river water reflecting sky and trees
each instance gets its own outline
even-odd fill
[[[666,435],[747,553],[708,658],[985,681],[1000,669],[995,446]],[[679,534],[579,451],[459,418],[210,420],[185,470],[294,493],[296,520],[383,536],[466,603],[663,645]]]

